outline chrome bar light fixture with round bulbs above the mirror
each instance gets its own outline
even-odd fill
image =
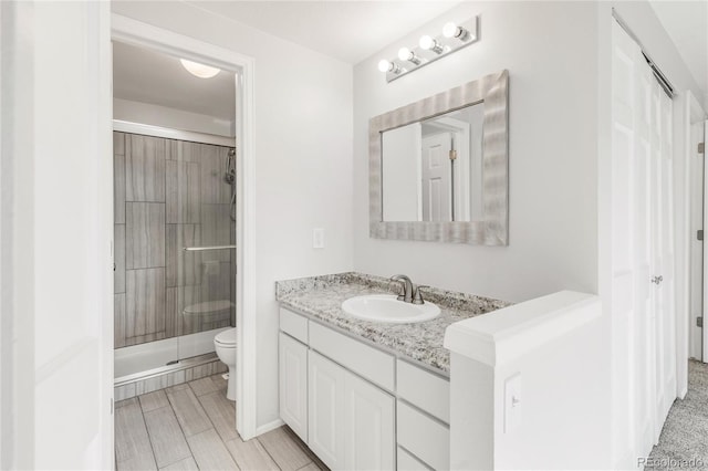
[[[396,59],[391,61],[384,59],[378,62],[378,70],[386,74],[387,82],[392,82],[459,51],[479,41],[477,21],[477,17],[472,17],[459,24],[447,22],[442,25],[442,34],[435,36],[426,34],[420,38],[416,48],[400,48]]]

